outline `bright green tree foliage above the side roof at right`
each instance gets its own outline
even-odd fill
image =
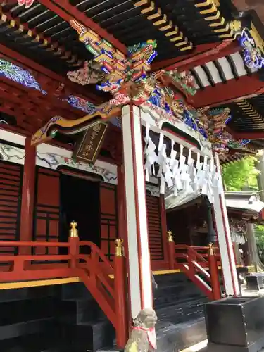
[[[227,191],[243,191],[252,189],[258,191],[257,159],[253,156],[243,158],[222,167],[222,178]]]

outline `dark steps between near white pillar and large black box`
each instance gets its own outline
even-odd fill
[[[207,338],[203,304],[208,301],[186,275],[156,275],[158,351],[177,352]]]

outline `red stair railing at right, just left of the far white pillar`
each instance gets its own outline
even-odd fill
[[[220,299],[219,254],[212,247],[175,245],[176,268],[179,268],[210,299]]]

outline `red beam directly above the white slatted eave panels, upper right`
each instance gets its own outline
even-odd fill
[[[241,50],[241,46],[239,46],[237,41],[222,42],[221,44],[201,44],[196,46],[191,54],[155,62],[151,65],[151,69],[165,68],[166,70],[173,70],[180,68],[182,71],[188,70],[223,56],[234,54],[239,50]]]

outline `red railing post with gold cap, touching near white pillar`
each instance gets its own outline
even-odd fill
[[[123,240],[115,240],[115,316],[116,343],[119,348],[125,348],[127,343],[127,275],[125,257],[123,256]]]

